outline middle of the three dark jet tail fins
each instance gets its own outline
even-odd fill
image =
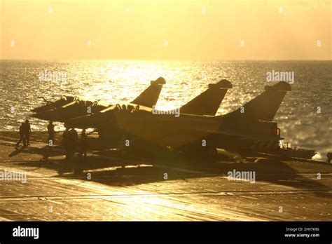
[[[232,87],[232,83],[227,80],[221,80],[216,84],[209,84],[209,88],[205,92],[180,107],[180,111],[182,114],[214,116],[227,90]]]

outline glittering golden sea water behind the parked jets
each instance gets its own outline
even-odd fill
[[[228,90],[218,114],[227,114],[264,90],[267,72],[294,72],[275,121],[291,147],[316,149],[317,159],[332,151],[332,61],[156,61],[156,60],[1,60],[0,130],[18,130],[30,109],[42,105],[39,97],[57,100],[75,95],[84,100],[115,104],[130,102],[150,81],[162,76],[167,84],[158,109],[174,109],[207,88],[228,79]],[[57,72],[42,81],[43,72]],[[66,74],[60,79],[61,74]],[[320,113],[317,112],[319,111]],[[46,121],[29,118],[32,130],[46,130]],[[62,124],[57,123],[57,130]]]

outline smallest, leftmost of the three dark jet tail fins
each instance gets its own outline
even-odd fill
[[[162,85],[165,83],[166,81],[162,77],[159,77],[155,81],[151,81],[150,86],[130,103],[145,107],[153,107],[153,105],[157,104]]]

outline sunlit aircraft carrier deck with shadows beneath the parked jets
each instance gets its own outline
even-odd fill
[[[17,132],[0,133],[0,171],[26,172],[27,182],[1,180],[1,221],[331,221],[331,164],[258,158],[216,162],[118,158],[88,151],[74,174],[46,133],[15,150]],[[57,141],[58,138],[57,138]],[[123,163],[125,168],[121,168]],[[77,164],[77,162],[76,162]],[[255,172],[255,182],[229,171]],[[167,174],[167,175],[165,175]],[[320,179],[319,179],[320,176]]]

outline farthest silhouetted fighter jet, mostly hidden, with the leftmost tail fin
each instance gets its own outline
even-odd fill
[[[165,84],[165,79],[159,77],[155,81],[151,81],[150,86],[146,88],[137,98],[135,98],[132,103],[139,104],[145,107],[153,107],[158,101],[162,85]],[[65,101],[69,101],[65,103]],[[62,105],[61,105],[62,104]],[[32,117],[41,118],[46,121],[58,121],[64,122],[69,118],[76,118],[78,116],[84,116],[87,114],[93,114],[106,107],[111,106],[110,104],[104,104],[102,102],[91,102],[79,100],[77,97],[69,99],[69,97],[62,97],[51,104],[46,104],[42,107],[38,107],[33,110],[40,111],[37,114],[32,114]],[[46,107],[50,109],[46,109]]]

